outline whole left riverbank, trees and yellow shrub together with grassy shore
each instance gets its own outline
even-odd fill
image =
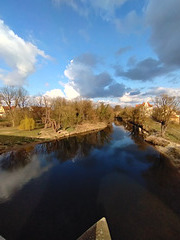
[[[29,96],[22,87],[0,89],[0,152],[36,142],[105,128],[114,120],[113,108],[78,98],[67,100]]]

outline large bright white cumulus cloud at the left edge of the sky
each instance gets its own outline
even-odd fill
[[[35,71],[37,57],[50,58],[44,51],[16,35],[0,20],[0,58],[11,69],[1,73],[0,79],[8,85],[23,85]]]

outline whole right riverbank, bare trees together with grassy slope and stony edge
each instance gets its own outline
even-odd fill
[[[168,95],[156,97],[151,104],[116,107],[116,117],[130,125],[133,134],[141,134],[180,168],[180,109],[179,98]]]

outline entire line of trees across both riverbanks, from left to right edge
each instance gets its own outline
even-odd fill
[[[7,86],[0,89],[0,105],[5,108],[6,125],[19,126],[20,129],[27,130],[41,126],[58,131],[84,122],[110,123],[114,116],[146,128],[147,118],[151,117],[161,124],[163,136],[172,116],[179,111],[179,103],[179,97],[164,94],[153,100],[151,109],[143,104],[124,108],[116,105],[112,108],[108,104],[94,103],[85,99],[70,101],[60,97],[32,97],[22,87]]]

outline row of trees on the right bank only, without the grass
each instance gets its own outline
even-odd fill
[[[177,116],[178,118],[180,114],[180,98],[162,94],[155,97],[152,102],[153,106],[151,108],[143,104],[139,104],[136,107],[115,107],[116,116],[122,118],[125,122],[130,122],[145,129],[147,127],[147,119],[151,118],[153,121],[160,123],[161,135],[164,137],[169,123],[173,121],[173,117]]]

